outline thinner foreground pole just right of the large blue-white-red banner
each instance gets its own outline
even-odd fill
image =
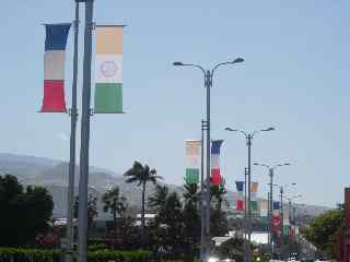
[[[75,136],[77,136],[77,79],[78,79],[78,36],[79,36],[79,2],[75,1],[75,20],[74,20],[74,56],[73,56],[73,82],[72,82],[72,108],[70,111],[70,159],[69,159],[69,182],[67,198],[67,251],[66,261],[71,261],[74,241],[73,225],[73,202],[74,202],[74,170],[75,170]]]

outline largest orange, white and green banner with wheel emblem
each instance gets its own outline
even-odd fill
[[[96,25],[94,112],[122,112],[122,25]]]

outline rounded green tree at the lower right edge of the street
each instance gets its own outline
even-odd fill
[[[343,210],[330,210],[316,216],[302,234],[330,259],[335,258],[334,237],[343,225]]]

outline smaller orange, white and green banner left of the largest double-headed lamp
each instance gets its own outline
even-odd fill
[[[200,140],[186,140],[186,176],[187,184],[199,182]]]

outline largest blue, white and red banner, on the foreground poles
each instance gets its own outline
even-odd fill
[[[42,112],[66,112],[65,61],[71,24],[46,24]]]

